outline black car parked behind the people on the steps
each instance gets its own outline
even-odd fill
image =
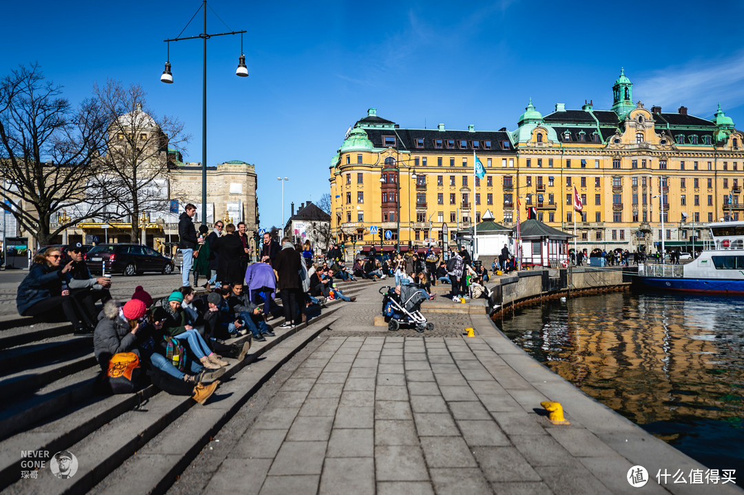
[[[141,275],[146,271],[161,274],[173,273],[173,261],[152,247],[129,242],[99,244],[86,254],[91,274],[100,275],[103,266],[107,274]]]

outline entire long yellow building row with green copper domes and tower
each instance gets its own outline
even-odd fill
[[[400,129],[370,109],[330,166],[333,228],[341,240],[379,246],[370,227],[382,227],[392,246],[400,221],[400,245],[423,245],[440,239],[445,223],[454,239],[487,209],[513,226],[519,197],[521,220],[535,207],[539,220],[571,233],[574,187],[584,204],[575,218],[580,248],[648,250],[664,236],[667,247],[691,250],[693,235],[707,236],[702,224],[739,219],[744,135],[720,106],[711,120],[684,106],[647,109],[632,102],[624,71],[612,90],[609,110],[557,103],[543,117],[530,100],[513,132]],[[474,152],[486,169],[481,181]]]

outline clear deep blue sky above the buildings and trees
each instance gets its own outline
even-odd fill
[[[175,83],[158,79],[162,40],[177,36],[201,1],[30,5],[3,6],[15,21],[0,30],[0,74],[39,62],[74,103],[106,78],[138,83],[155,115],[186,124],[185,158],[201,161],[201,40],[171,43]],[[212,0],[209,33],[248,31],[250,77],[234,75],[240,36],[208,42],[208,164],[255,164],[261,224],[279,224],[277,176],[289,177],[285,216],[290,201],[327,193],[330,158],[368,107],[402,127],[513,130],[530,97],[543,114],[584,100],[609,109],[621,66],[647,107],[684,105],[710,118],[720,102],[744,126],[744,2],[589,5]],[[199,13],[182,36],[201,29]]]

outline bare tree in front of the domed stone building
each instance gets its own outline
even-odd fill
[[[145,110],[146,93],[140,85],[124,88],[109,80],[103,88],[94,86],[94,94],[110,125],[101,157],[106,174],[93,190],[106,198],[112,216],[129,217],[129,237],[138,242],[140,215],[167,212],[169,156],[176,156],[188,137],[178,120],[155,119]]]

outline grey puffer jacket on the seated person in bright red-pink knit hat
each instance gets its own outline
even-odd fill
[[[98,324],[93,332],[93,353],[101,368],[109,369],[109,359],[117,352],[135,349],[137,337],[132,334],[121,308],[114,300],[106,301],[98,315]]]

